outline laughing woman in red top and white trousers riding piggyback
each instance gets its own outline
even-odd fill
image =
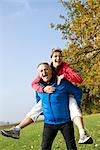
[[[69,80],[70,82],[74,82],[74,83],[82,82],[81,77],[75,71],[73,71],[73,69],[71,69],[70,66],[68,66],[68,64],[62,62],[62,51],[60,49],[53,49],[53,51],[51,53],[51,58],[52,58],[51,67],[55,74],[60,75],[59,77],[61,77],[64,74],[63,78]],[[33,83],[36,84],[36,86],[34,85],[36,88],[33,87]],[[47,93],[52,93],[55,90],[55,88],[50,85],[47,85],[46,87],[42,87],[39,84],[37,84],[36,81],[32,82],[32,87],[35,90],[38,89],[37,90],[38,92],[40,90],[40,92],[44,91]],[[43,89],[43,91],[42,91],[42,89]],[[80,139],[79,139],[78,143],[92,144],[93,143],[92,138],[88,134],[86,134],[86,132],[84,130],[84,125],[83,125],[83,122],[81,119],[82,114],[80,112],[80,109],[77,106],[75,98],[69,97],[69,99],[70,99],[69,108],[70,108],[71,119],[77,125],[77,127],[79,129]],[[32,110],[27,114],[27,116],[20,122],[19,125],[17,125],[16,127],[12,128],[8,131],[2,130],[1,133],[4,136],[18,139],[20,137],[21,129],[31,123],[34,123],[35,120],[37,119],[37,117],[41,114],[41,112],[42,112],[41,101],[39,101],[37,103],[37,105],[35,105],[32,108]]]

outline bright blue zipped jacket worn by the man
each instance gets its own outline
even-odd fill
[[[40,85],[46,86],[42,80]],[[67,80],[62,80],[60,85],[52,78],[49,85],[56,88],[55,92],[48,94],[37,92],[38,101],[42,100],[44,122],[48,124],[62,124],[70,121],[69,94],[74,95],[77,104],[80,106],[82,91]]]

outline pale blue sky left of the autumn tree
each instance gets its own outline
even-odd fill
[[[0,0],[0,121],[19,122],[35,105],[37,65],[66,45],[50,28],[64,13],[57,0]]]

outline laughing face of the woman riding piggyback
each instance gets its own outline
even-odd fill
[[[53,66],[56,68],[58,67],[62,62],[62,55],[60,52],[54,52],[53,56],[52,56],[52,63]]]

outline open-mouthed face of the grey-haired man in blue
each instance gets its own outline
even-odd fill
[[[50,79],[52,77],[52,70],[48,65],[41,64],[41,65],[39,65],[37,70],[38,70],[40,78],[44,82],[49,82],[50,81]]]

